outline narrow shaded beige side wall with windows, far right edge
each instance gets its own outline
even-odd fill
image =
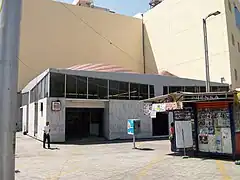
[[[228,45],[230,51],[230,65],[231,65],[231,79],[233,88],[240,87],[240,51],[238,47],[238,43],[240,43],[240,29],[237,28],[235,22],[235,13],[234,13],[234,5],[237,6],[240,11],[240,3],[238,0],[224,0],[225,2],[225,13],[226,13],[226,21],[228,28]],[[229,3],[231,4],[231,11],[229,9]],[[232,34],[235,39],[235,46],[232,44]],[[238,78],[235,79],[234,69],[237,70]]]

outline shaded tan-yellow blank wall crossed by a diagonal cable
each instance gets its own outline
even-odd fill
[[[19,90],[47,68],[106,63],[143,72],[140,19],[65,6],[69,10],[51,0],[23,0]]]

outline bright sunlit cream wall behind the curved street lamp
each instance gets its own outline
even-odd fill
[[[149,45],[145,44],[148,72],[155,61],[158,72],[205,80],[202,19],[207,20],[211,81],[231,81],[224,0],[165,0],[144,14]]]

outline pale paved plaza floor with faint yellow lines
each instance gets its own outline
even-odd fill
[[[17,134],[16,180],[240,180],[231,161],[169,155],[169,141],[53,144]]]

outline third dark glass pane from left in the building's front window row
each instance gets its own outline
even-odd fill
[[[87,99],[87,78],[77,76],[77,98]]]

